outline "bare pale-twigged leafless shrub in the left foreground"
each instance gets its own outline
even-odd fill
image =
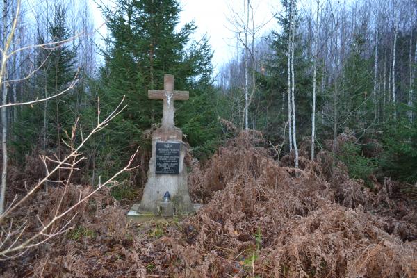
[[[104,120],[100,119],[100,109],[98,108],[97,125],[87,135],[83,134],[82,128],[77,121],[72,129],[72,133],[67,134],[67,141],[64,141],[65,145],[70,149],[70,152],[63,159],[60,160],[57,156],[40,156],[40,160],[47,174],[31,186],[31,188],[26,188],[27,192],[22,197],[17,198],[15,196],[8,208],[0,215],[0,223],[2,224],[0,232],[0,259],[13,259],[21,256],[31,248],[47,243],[51,238],[65,233],[71,227],[72,221],[76,218],[76,210],[86,200],[102,188],[105,188],[119,174],[132,169],[131,163],[136,154],[133,154],[126,167],[114,174],[113,177],[104,182],[100,181],[97,187],[88,194],[81,194],[80,191],[79,196],[76,197],[76,202],[69,201],[74,199],[68,196],[71,188],[72,175],[79,170],[79,163],[86,159],[81,154],[81,147],[85,145],[85,142],[93,134],[106,127],[124,109],[124,107],[121,108],[121,105],[122,102]],[[81,142],[78,144],[75,140],[77,135],[81,137]],[[64,176],[65,179],[63,177],[61,179],[54,179],[56,178],[56,172],[60,170],[67,172]],[[28,233],[27,230],[31,227],[28,223],[31,223],[31,221],[24,217],[25,211],[22,211],[21,208],[26,202],[33,199],[35,192],[42,188],[46,182],[61,186],[63,188],[61,190],[62,192],[54,196],[58,197],[58,202],[54,202],[54,198],[49,199],[49,202],[54,205],[46,204],[43,209],[42,207],[38,208],[38,213],[33,216],[38,221],[39,229],[34,229],[33,232]],[[37,196],[39,197],[40,195]],[[19,216],[23,218],[19,218]]]

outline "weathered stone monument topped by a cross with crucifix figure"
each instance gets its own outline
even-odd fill
[[[163,117],[161,128],[152,133],[152,158],[142,200],[127,215],[133,221],[195,211],[188,194],[183,133],[174,124],[174,101],[187,100],[188,91],[174,90],[174,76],[165,74],[164,89],[149,90],[148,97],[163,100]]]

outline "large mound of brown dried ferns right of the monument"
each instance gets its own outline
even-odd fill
[[[377,184],[375,194],[349,179],[343,165],[327,171],[332,174],[327,179],[321,165],[329,165],[331,157],[324,152],[318,155],[320,165],[304,159],[303,170],[281,166],[265,149],[241,143],[253,139],[241,135],[196,177],[200,182],[194,192],[203,197],[208,188],[223,189],[188,221],[193,242],[186,253],[193,256],[187,265],[197,269],[190,271],[214,276],[416,277],[415,213],[390,199],[389,180]],[[389,206],[414,221],[373,213]]]

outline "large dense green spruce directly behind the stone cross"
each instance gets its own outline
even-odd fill
[[[106,6],[102,10],[111,35],[103,51],[101,103],[113,108],[126,95],[127,107],[113,122],[111,136],[107,137],[101,152],[116,158],[113,161],[116,165],[112,163],[112,166],[117,166],[124,163],[124,158],[137,145],[149,149],[142,133],[161,122],[163,109],[162,101],[148,99],[147,91],[162,89],[164,74],[174,74],[175,90],[190,90],[190,101],[175,104],[177,126],[185,127],[184,132],[193,145],[201,145],[208,133],[202,138],[194,132],[201,132],[199,129],[207,126],[206,121],[217,119],[204,117],[196,125],[186,124],[193,121],[190,115],[197,112],[196,107],[202,109],[198,111],[200,115],[208,115],[207,109],[213,107],[203,100],[211,97],[202,96],[214,93],[206,90],[211,88],[211,52],[207,40],[189,44],[196,28],[193,22],[177,31],[181,9],[175,0],[118,0],[115,11]],[[108,169],[108,165],[104,168]]]

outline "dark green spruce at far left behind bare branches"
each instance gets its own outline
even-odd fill
[[[36,49],[35,67],[39,68],[33,79],[31,88],[35,97],[50,97],[65,90],[76,74],[76,49],[70,44],[61,41],[70,38],[66,23],[66,13],[63,6],[54,7],[54,17],[47,29],[48,39],[38,33],[38,44],[56,42],[49,47]],[[14,132],[17,141],[17,157],[24,157],[34,148],[54,149],[61,145],[65,130],[70,131],[78,115],[74,113],[74,99],[82,92],[73,88],[64,95],[49,99],[34,106],[24,106]]]

